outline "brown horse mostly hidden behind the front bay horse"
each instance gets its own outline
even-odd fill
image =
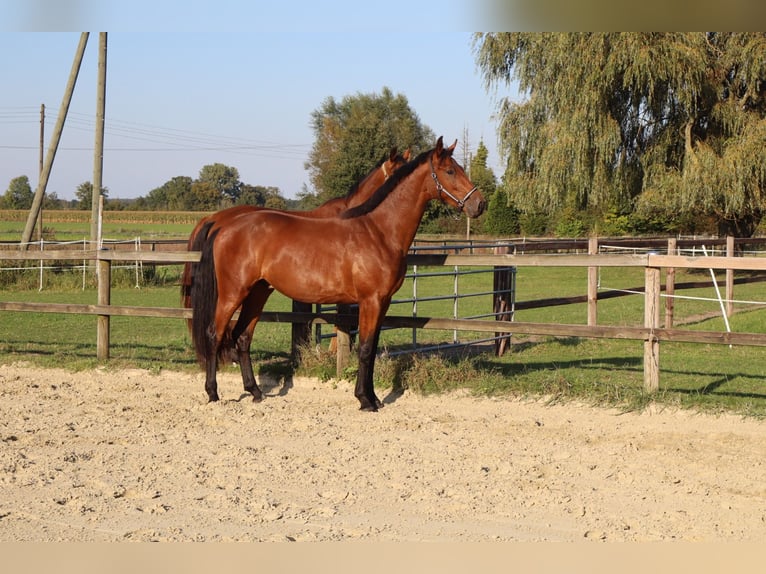
[[[363,179],[357,182],[345,196],[330,199],[311,210],[296,211],[293,213],[301,215],[302,217],[334,217],[346,209],[354,207],[355,205],[359,205],[360,203],[363,203],[365,200],[367,200],[367,198],[370,197],[372,193],[391,176],[392,173],[410,161],[410,159],[412,158],[409,149],[400,154],[397,153],[396,147],[392,147],[388,156],[384,157],[377,164],[375,164],[373,169],[366,176],[364,176]],[[200,231],[207,224],[212,224],[211,230],[215,230],[221,226],[227,225],[228,222],[232,221],[243,213],[250,213],[261,209],[267,208],[256,205],[235,205],[233,207],[222,209],[211,215],[203,217],[197,222],[197,225],[192,230],[191,235],[189,235],[189,239],[186,245],[187,250],[199,250],[201,246],[201,241],[198,240],[200,237]],[[195,268],[196,265],[194,263],[187,262],[184,264],[183,271],[181,273],[181,304],[186,309],[191,308],[191,286],[194,281]],[[187,319],[186,323],[189,332],[191,333],[192,320]],[[232,362],[236,361],[237,359],[235,356],[227,356],[226,360],[228,362]]]

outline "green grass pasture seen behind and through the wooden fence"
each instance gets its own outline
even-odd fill
[[[443,268],[429,268],[428,271]],[[131,269],[114,273],[112,303],[115,305],[177,307],[179,305],[178,267],[154,269],[150,281],[135,287]],[[421,271],[425,271],[421,269]],[[148,273],[146,270],[145,273]],[[40,301],[96,303],[92,282],[61,277],[59,273],[42,291],[32,280],[0,288],[2,301]],[[573,268],[523,267],[517,270],[517,301],[584,295],[587,271]],[[738,275],[739,277],[739,275]],[[678,272],[676,282],[709,279],[709,272]],[[718,275],[723,285],[723,274]],[[630,290],[643,286],[641,268],[602,268],[600,284],[606,289]],[[664,275],[663,275],[664,281]],[[454,278],[419,279],[420,296],[451,293]],[[460,291],[488,291],[491,275],[459,278]],[[19,285],[25,285],[23,288]],[[712,287],[679,291],[684,297],[714,298]],[[407,281],[397,298],[411,295]],[[735,286],[735,299],[766,300],[763,283]],[[643,295],[604,299],[599,302],[598,321],[602,325],[642,325]],[[421,303],[419,316],[452,317],[452,301]],[[458,316],[490,311],[489,295],[461,299]],[[678,299],[675,326],[688,329],[723,331],[719,303],[715,300]],[[267,310],[289,310],[290,301],[275,293]],[[751,303],[735,305],[730,319],[732,331],[766,332],[766,311]],[[407,315],[411,305],[393,307],[392,315]],[[663,315],[664,316],[664,315]],[[586,305],[578,303],[517,311],[517,321],[585,324]],[[325,327],[325,330],[330,330]],[[411,344],[411,330],[385,331],[381,336],[383,356],[376,364],[376,384],[408,388],[415,392],[445,392],[468,388],[478,394],[577,400],[624,409],[642,408],[648,402],[713,412],[736,412],[748,416],[766,415],[766,349],[663,342],[660,346],[660,391],[647,396],[643,391],[643,344],[641,341],[554,337],[513,337],[510,352],[498,358],[491,352],[451,351],[439,356],[402,355],[388,357]],[[452,340],[452,331],[418,331],[420,344],[442,344]],[[484,337],[481,333],[459,332],[460,340]],[[334,373],[333,358],[312,346],[298,372],[329,378]],[[486,349],[485,349],[486,350]],[[257,371],[292,372],[289,362],[289,324],[261,323],[252,348]],[[111,359],[107,368],[140,367],[195,371],[196,366],[186,324],[181,320],[113,317],[111,320]],[[98,364],[96,318],[64,314],[0,312],[0,364],[25,361],[44,367],[90,368]],[[233,368],[233,367],[227,367]],[[353,365],[346,375],[354,376]],[[201,397],[202,389],[198,389]]]

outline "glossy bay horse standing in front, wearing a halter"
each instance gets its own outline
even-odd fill
[[[452,155],[457,140],[400,167],[364,203],[338,217],[306,218],[261,210],[226,226],[207,223],[192,286],[192,340],[205,370],[210,402],[219,400],[216,371],[227,326],[239,355],[245,391],[263,398],[250,362],[253,330],[277,289],[305,303],[359,305],[359,369],[354,395],[361,410],[377,411],[373,371],[380,327],[406,272],[406,257],[429,201],[438,199],[477,217],[486,201]]]

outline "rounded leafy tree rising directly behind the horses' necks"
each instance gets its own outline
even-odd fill
[[[380,94],[327,98],[311,114],[315,142],[306,162],[317,203],[346,195],[392,147],[419,153],[433,146],[407,98],[389,88]],[[311,204],[306,194],[302,203]]]

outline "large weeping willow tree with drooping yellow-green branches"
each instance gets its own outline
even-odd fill
[[[766,34],[474,36],[500,100],[504,181],[527,210],[714,217],[750,235],[766,210]]]

